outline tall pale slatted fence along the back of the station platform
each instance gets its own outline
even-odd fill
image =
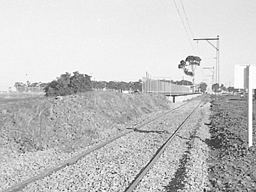
[[[170,80],[155,80],[142,77],[142,92],[153,92],[168,94],[189,93],[190,86],[175,85]]]

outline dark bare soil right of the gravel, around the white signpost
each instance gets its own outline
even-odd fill
[[[256,105],[253,104],[253,147],[248,147],[247,100],[212,98],[209,180],[211,191],[256,191]]]

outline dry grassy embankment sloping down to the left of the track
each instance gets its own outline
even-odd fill
[[[25,153],[72,151],[124,130],[138,117],[167,109],[158,94],[87,92],[54,98],[1,100],[1,147]]]

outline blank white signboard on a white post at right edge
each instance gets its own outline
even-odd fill
[[[243,74],[243,76],[242,76]],[[235,89],[248,89],[248,145],[252,147],[252,89],[256,89],[256,65],[235,65]],[[244,77],[244,78],[243,78]]]

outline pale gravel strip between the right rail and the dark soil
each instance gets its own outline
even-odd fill
[[[177,133],[134,191],[204,191],[208,181],[209,103],[201,105]]]

